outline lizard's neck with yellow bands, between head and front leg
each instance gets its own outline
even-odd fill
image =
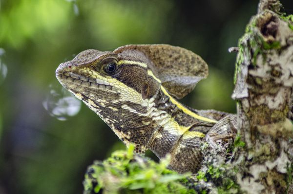
[[[187,138],[199,142],[215,124],[214,122],[199,120],[198,117],[201,118],[201,116],[182,104],[179,107],[179,102],[166,95],[162,90],[158,93],[155,104],[157,110],[164,111],[165,114],[161,114],[160,119],[156,121],[157,128],[153,131],[147,147],[159,158],[165,157],[167,153],[172,153]],[[188,109],[198,117],[186,113],[183,108]]]

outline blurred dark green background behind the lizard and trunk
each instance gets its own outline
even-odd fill
[[[282,0],[287,13],[293,1]],[[182,102],[235,112],[236,46],[258,0],[0,0],[0,194],[80,194],[86,167],[124,148],[89,108],[60,121],[43,102],[60,63],[125,44],[185,47],[209,77]],[[7,67],[7,76],[5,67]]]

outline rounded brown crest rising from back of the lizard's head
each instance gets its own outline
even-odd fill
[[[168,44],[138,44],[121,46],[114,53],[130,50],[143,53],[149,59],[146,61],[148,67],[168,93],[177,99],[186,96],[209,74],[207,63],[185,48]]]

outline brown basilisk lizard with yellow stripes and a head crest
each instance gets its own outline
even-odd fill
[[[170,168],[197,172],[201,142],[233,137],[235,117],[195,110],[177,99],[208,75],[193,52],[167,44],[126,45],[79,53],[56,70],[59,82],[95,111],[136,153],[171,155]]]

